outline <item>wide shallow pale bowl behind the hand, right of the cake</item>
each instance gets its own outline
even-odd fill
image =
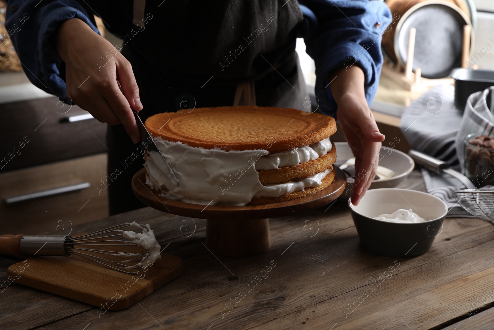
[[[347,142],[334,142],[334,145],[336,146],[337,162],[340,160],[347,161],[353,157],[352,150]],[[379,165],[389,168],[395,172],[395,175],[391,178],[382,178],[372,181],[369,189],[396,187],[396,185],[405,180],[405,178],[413,171],[413,167],[415,167],[412,157],[404,152],[387,146],[381,146]],[[353,181],[347,180],[345,191],[338,199],[349,198],[353,192],[353,184]]]

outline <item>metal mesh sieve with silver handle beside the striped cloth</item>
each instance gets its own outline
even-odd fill
[[[458,204],[471,215],[494,224],[494,190],[480,190],[463,174],[456,172],[446,162],[416,150],[408,153],[416,164],[437,173],[447,173],[458,179],[467,189],[454,191]]]

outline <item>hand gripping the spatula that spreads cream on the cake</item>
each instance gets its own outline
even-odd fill
[[[137,143],[139,129],[132,109],[139,111],[142,104],[132,66],[124,56],[78,18],[60,26],[57,50],[65,62],[67,96],[72,102],[102,123],[123,124]]]

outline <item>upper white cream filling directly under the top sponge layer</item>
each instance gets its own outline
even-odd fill
[[[276,170],[286,166],[296,166],[326,155],[331,151],[329,138],[313,143],[311,145],[292,148],[287,151],[277,152],[260,157],[255,163],[255,169]]]

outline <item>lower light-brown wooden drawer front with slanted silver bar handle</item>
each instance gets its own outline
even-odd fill
[[[21,154],[22,155],[22,154]],[[36,235],[108,216],[106,153],[0,173],[0,235]],[[89,183],[90,187],[7,204],[3,199]],[[104,188],[104,189],[103,189]]]

